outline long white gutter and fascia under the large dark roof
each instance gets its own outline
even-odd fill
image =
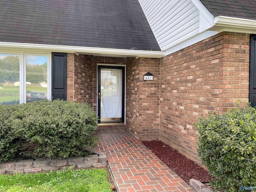
[[[92,54],[92,55],[102,55],[102,56],[111,55],[116,57],[123,56],[123,57],[162,58],[165,55],[165,52],[163,51],[126,50],[126,49],[44,45],[44,44],[30,44],[30,43],[14,43],[14,42],[0,42],[0,47],[37,49],[37,50],[48,50],[51,52]]]

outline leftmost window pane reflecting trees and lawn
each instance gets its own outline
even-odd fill
[[[20,103],[20,56],[0,54],[0,103]]]

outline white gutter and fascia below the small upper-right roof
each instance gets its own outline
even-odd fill
[[[213,19],[213,24],[215,26],[242,28],[244,29],[245,32],[248,29],[256,30],[256,20],[250,20],[250,19],[216,16]]]

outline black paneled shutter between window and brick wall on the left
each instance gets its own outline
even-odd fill
[[[52,53],[52,99],[67,99],[66,53]]]

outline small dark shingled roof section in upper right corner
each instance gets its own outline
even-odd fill
[[[200,0],[213,16],[256,20],[255,0]]]

